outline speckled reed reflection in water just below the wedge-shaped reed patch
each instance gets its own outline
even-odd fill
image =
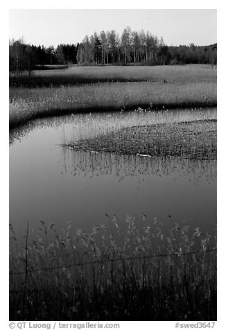
[[[62,149],[64,171],[88,177],[116,174],[121,181],[125,177],[146,180],[147,175],[173,175],[174,179],[189,176],[198,182],[205,177],[207,182],[216,180],[216,160],[184,159],[182,157],[137,157],[116,153],[96,153]]]

